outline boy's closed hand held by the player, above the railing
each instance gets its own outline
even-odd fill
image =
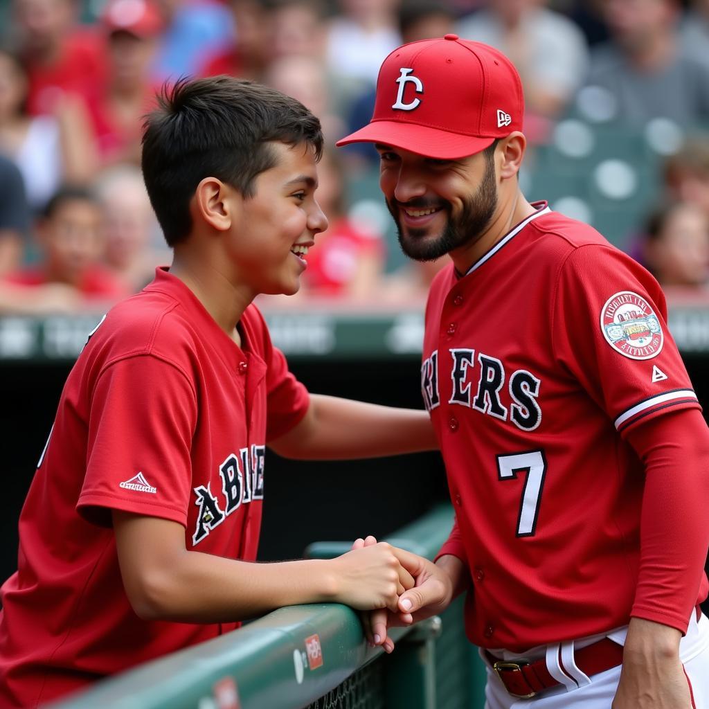
[[[358,546],[331,559],[330,565],[335,579],[333,600],[357,610],[396,611],[399,596],[414,583],[394,554],[394,547],[386,542]]]

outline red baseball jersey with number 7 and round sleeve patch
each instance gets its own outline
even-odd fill
[[[471,642],[516,652],[625,625],[640,562],[637,423],[699,408],[645,269],[545,203],[430,291],[422,390],[464,559]],[[706,577],[698,591],[706,596]],[[690,609],[664,609],[683,625]]]

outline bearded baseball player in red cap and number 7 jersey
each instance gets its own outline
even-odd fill
[[[452,260],[421,388],[456,524],[369,636],[467,589],[491,709],[708,709],[707,426],[657,281],[520,192],[523,111],[511,62],[451,34],[391,52],[339,143],[379,150],[403,250]]]

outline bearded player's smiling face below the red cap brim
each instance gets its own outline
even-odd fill
[[[478,240],[498,205],[493,153],[435,160],[389,145],[379,184],[403,252],[431,261]]]

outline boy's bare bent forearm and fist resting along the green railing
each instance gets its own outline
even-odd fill
[[[326,601],[393,609],[413,586],[385,543],[335,559],[255,564],[186,549],[172,520],[113,510],[113,530],[126,596],[145,620],[220,623]]]

